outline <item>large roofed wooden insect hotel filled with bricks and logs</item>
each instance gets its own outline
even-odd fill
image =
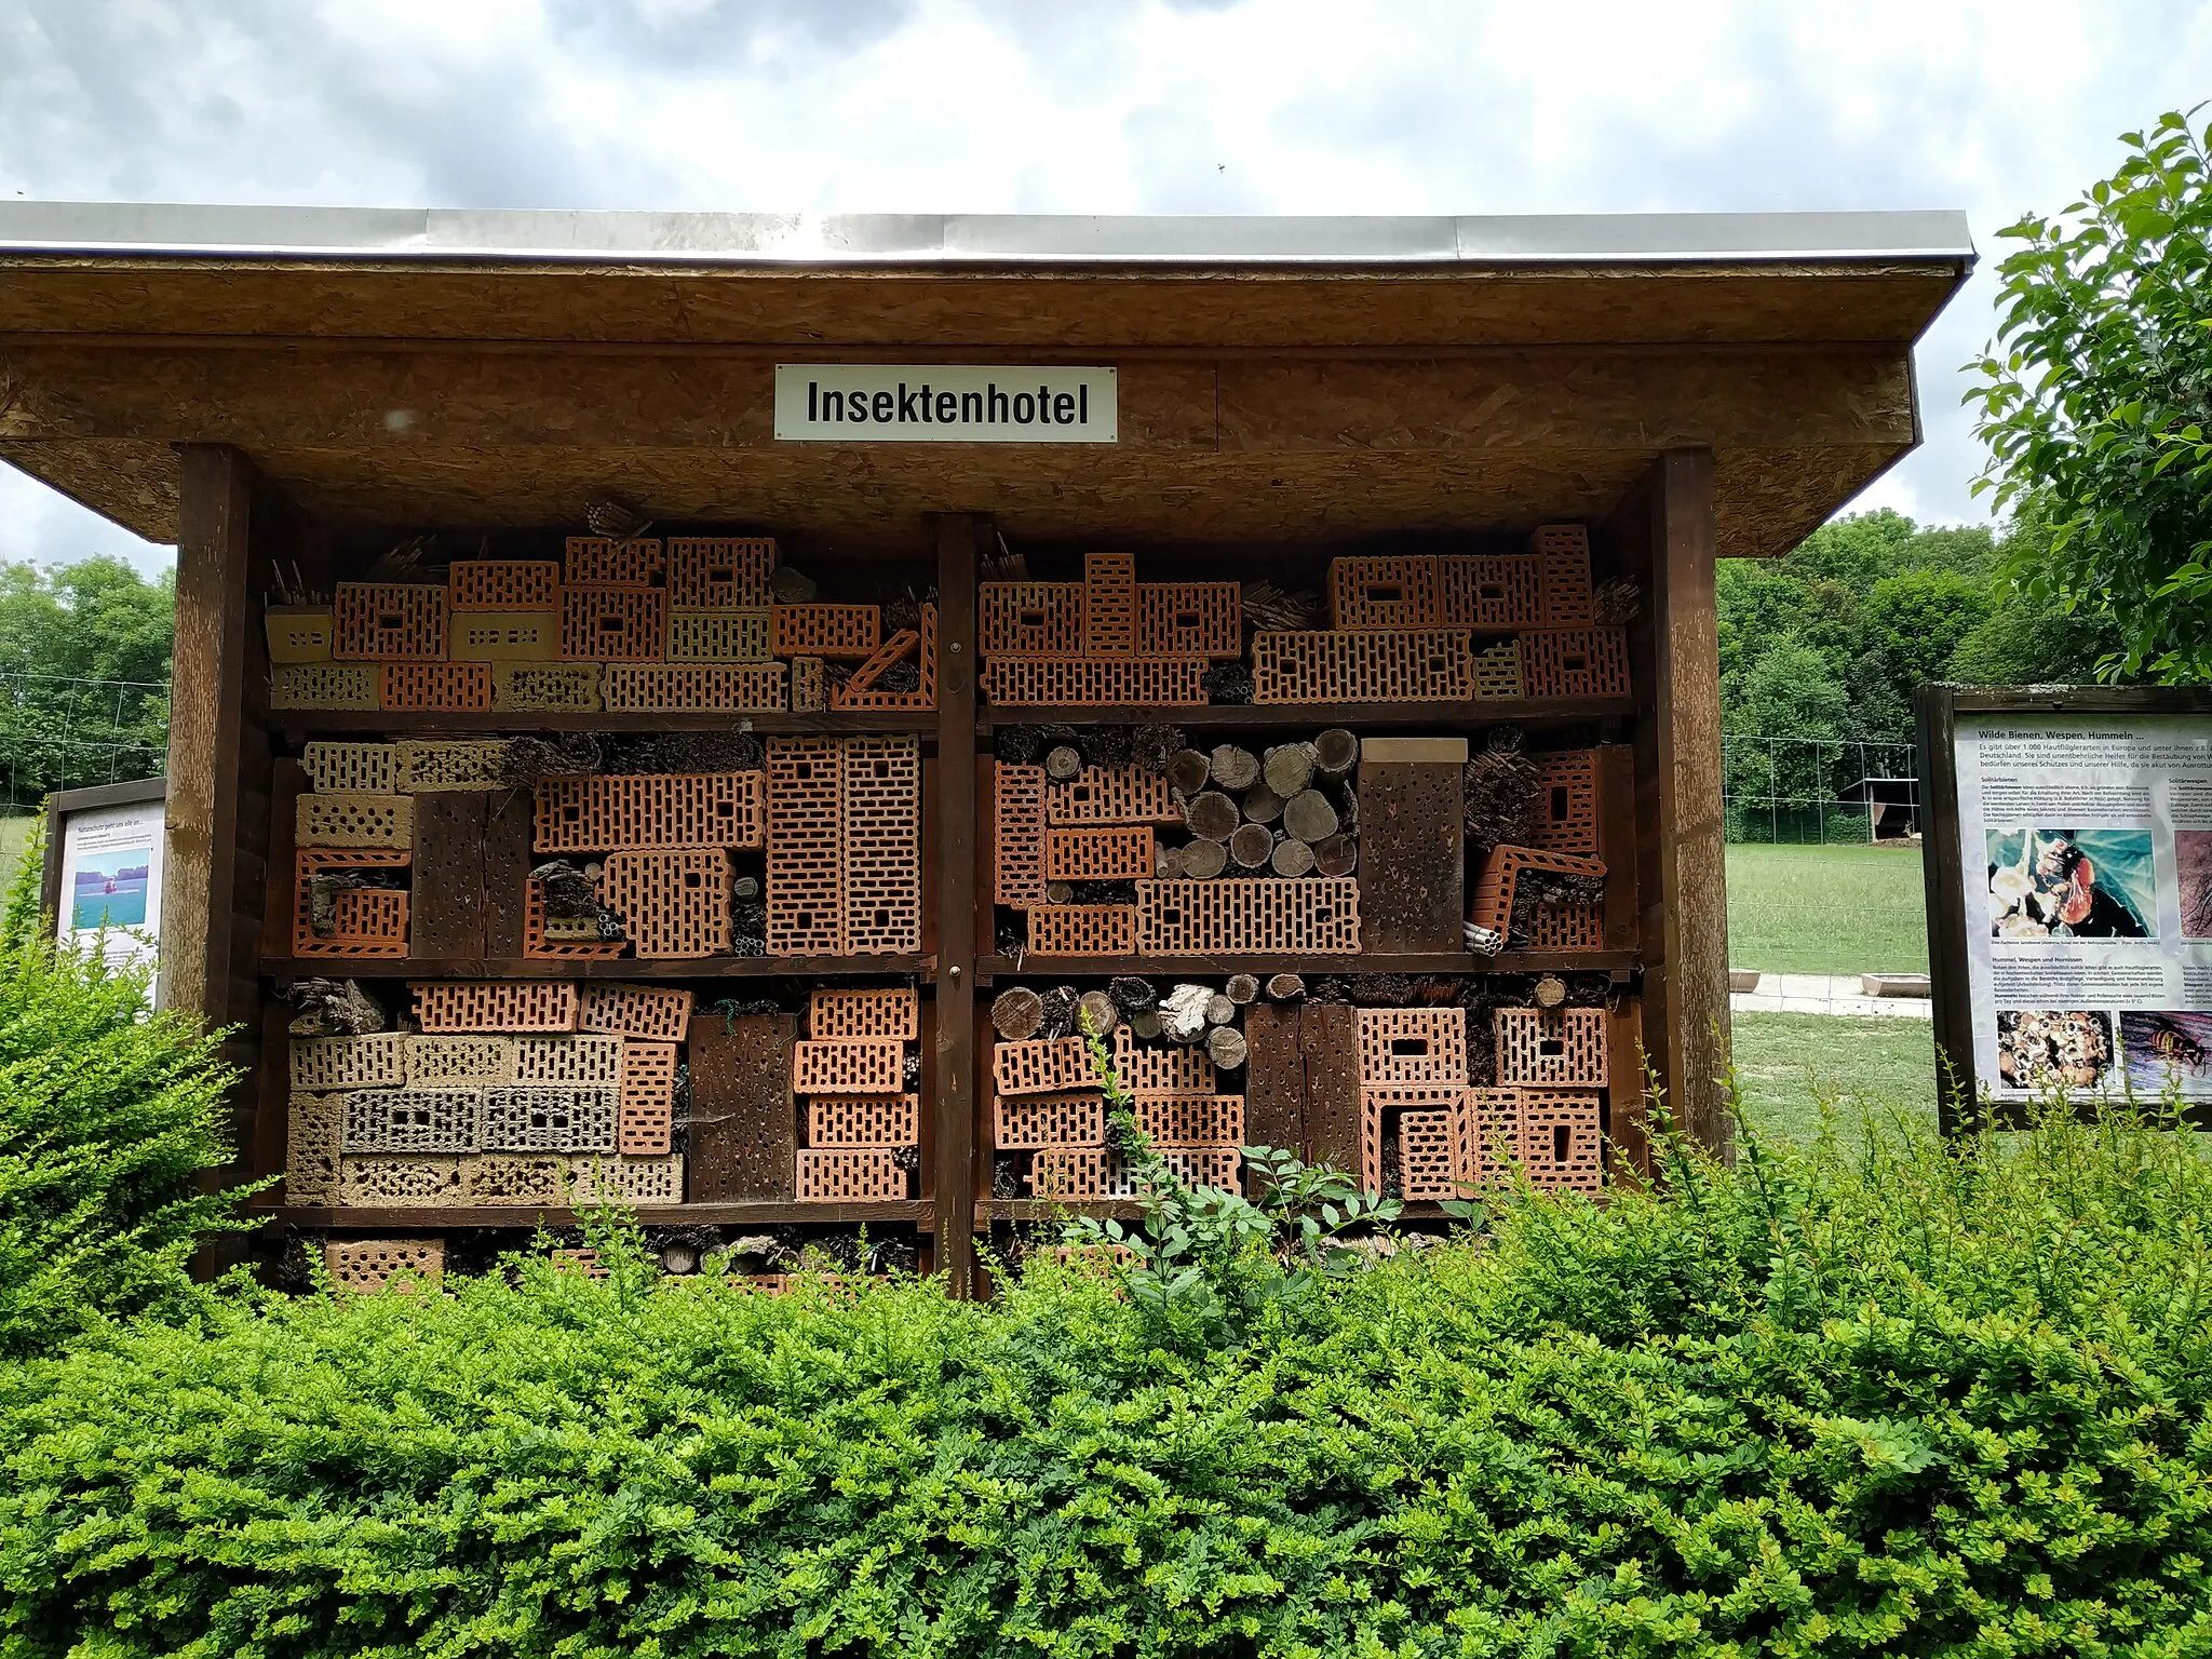
[[[283,1177],[243,1248],[374,1285],[619,1199],[670,1272],[973,1294],[1137,1199],[1086,1031],[1188,1179],[1411,1225],[1601,1201],[1655,1091],[1725,1144],[1714,560],[1916,445],[1969,265],[0,204],[0,456],[179,546],[159,993]]]

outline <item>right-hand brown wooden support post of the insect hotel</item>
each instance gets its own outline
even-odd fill
[[[1637,891],[1644,1044],[1674,1124],[1730,1152],[1728,865],[1712,451],[1670,449],[1615,511],[1608,540],[1644,584],[1630,628],[1637,710]],[[1635,1088],[1615,1077],[1615,1095]]]

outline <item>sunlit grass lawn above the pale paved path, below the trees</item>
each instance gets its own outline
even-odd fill
[[[1730,847],[1728,964],[1761,973],[1924,973],[1918,847]]]

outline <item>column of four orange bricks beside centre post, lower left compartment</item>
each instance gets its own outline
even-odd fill
[[[920,998],[911,989],[816,991],[792,1044],[801,1203],[914,1197],[920,1168]]]

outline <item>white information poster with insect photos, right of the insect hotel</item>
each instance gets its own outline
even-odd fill
[[[1975,1084],[2212,1097],[2212,728],[1960,717]]]

